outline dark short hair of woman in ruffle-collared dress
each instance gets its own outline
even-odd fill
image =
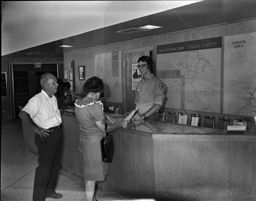
[[[99,77],[91,77],[85,81],[83,85],[83,90],[85,92],[85,95],[87,95],[89,92],[93,93],[101,93],[104,90],[103,81]]]

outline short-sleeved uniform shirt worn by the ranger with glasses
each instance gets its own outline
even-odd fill
[[[135,91],[136,108],[140,108],[139,114],[147,112],[154,104],[162,106],[164,95],[164,84],[152,73],[147,79],[142,76],[141,81],[136,85]]]

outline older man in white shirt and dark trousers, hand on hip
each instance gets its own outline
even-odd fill
[[[30,98],[19,113],[19,117],[35,132],[34,142],[39,154],[34,177],[34,201],[63,196],[55,191],[63,147],[62,118],[53,95],[58,87],[56,77],[51,73],[43,74],[41,86],[42,91]]]

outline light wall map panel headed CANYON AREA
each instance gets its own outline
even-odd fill
[[[224,37],[223,113],[256,110],[256,32]]]

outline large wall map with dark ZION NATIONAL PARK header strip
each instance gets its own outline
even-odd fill
[[[222,37],[157,46],[166,108],[220,112]]]

